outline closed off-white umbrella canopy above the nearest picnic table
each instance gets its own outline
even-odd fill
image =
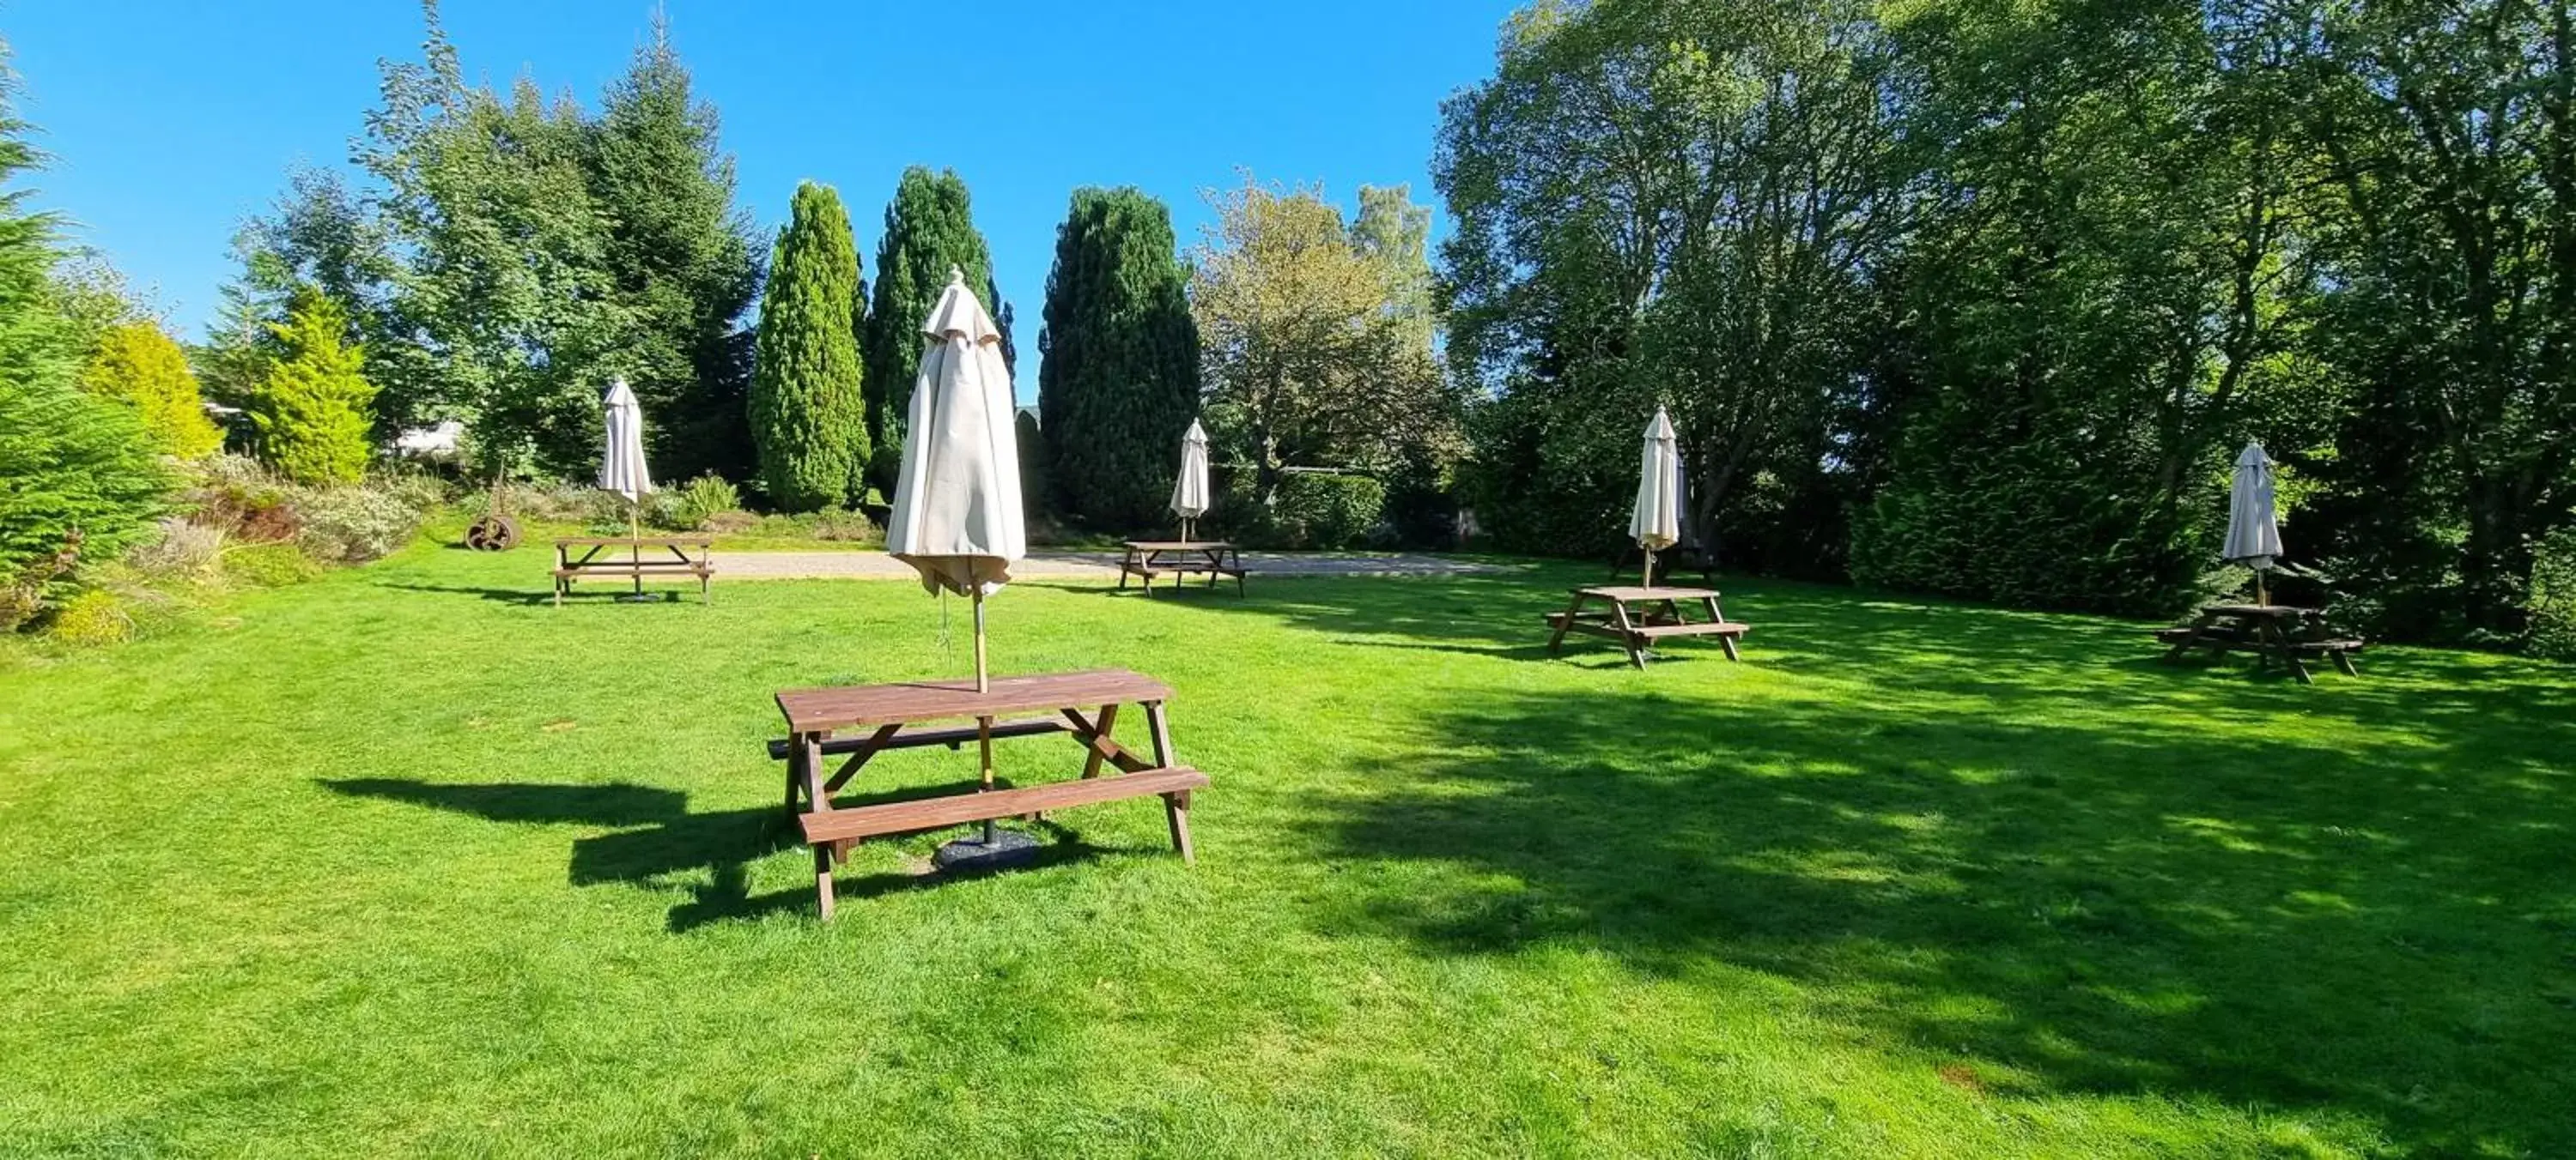
[[[1028,556],[1002,332],[951,267],[922,337],[886,550],[917,568],[927,592],[984,597]]]

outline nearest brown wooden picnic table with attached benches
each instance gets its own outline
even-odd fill
[[[770,756],[788,764],[786,808],[799,815],[804,838],[814,846],[814,895],[822,916],[832,918],[832,864],[848,862],[850,846],[860,838],[971,820],[1036,818],[1046,810],[1121,797],[1159,795],[1172,828],[1172,849],[1180,851],[1182,862],[1195,862],[1190,792],[1203,790],[1208,774],[1177,764],[1172,728],[1164,720],[1167,700],[1172,700],[1167,684],[1126,669],[994,676],[987,692],[976,692],[974,679],[781,692],[778,712],[788,720],[788,736],[770,741]],[[1121,705],[1144,710],[1154,748],[1151,761],[1110,738]],[[933,725],[945,720],[974,723]],[[961,748],[969,741],[989,743],[989,738],[1038,733],[1072,733],[1074,743],[1082,746],[1079,779],[994,790],[987,761],[987,784],[979,792],[855,808],[832,805],[832,795],[858,777],[876,754],[920,746]],[[827,774],[824,759],[842,754],[848,761]],[[1103,774],[1103,764],[1115,766],[1115,772]]]

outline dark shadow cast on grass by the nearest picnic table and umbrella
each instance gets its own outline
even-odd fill
[[[876,805],[907,797],[974,792],[979,782],[927,784],[889,792],[842,792],[842,808]],[[791,890],[750,893],[750,867],[786,849],[804,849],[793,820],[778,805],[742,810],[688,810],[688,795],[631,782],[608,784],[544,784],[544,782],[422,782],[410,777],[337,777],[322,787],[433,810],[464,813],[510,826],[605,826],[608,833],[572,838],[567,880],[572,885],[639,885],[652,890],[685,887],[688,900],[670,911],[675,934],[721,921],[760,918],[768,913],[811,913],[814,887],[801,882]],[[1056,820],[1030,826],[1043,841],[1028,864],[997,869],[999,875],[1046,869],[1090,862],[1115,849],[1095,846],[1077,831]],[[703,882],[698,875],[703,872]],[[994,872],[979,872],[994,875]],[[837,895],[842,903],[920,890],[945,882],[951,875],[878,872],[842,877]]]

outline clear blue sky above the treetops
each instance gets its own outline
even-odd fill
[[[448,0],[466,72],[598,105],[652,0]],[[907,165],[974,190],[1036,394],[1038,301],[1077,185],[1139,185],[1182,244],[1236,167],[1430,188],[1440,98],[1492,72],[1510,0],[953,5],[667,0],[680,57],[724,116],[739,201],[773,229],[796,180],[840,188],[871,265]],[[39,203],[201,332],[227,244],[296,162],[345,165],[376,59],[420,57],[410,0],[0,0],[26,116],[54,154]],[[1445,221],[1435,226],[1445,229]]]

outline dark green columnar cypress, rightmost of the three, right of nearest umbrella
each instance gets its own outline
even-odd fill
[[[1064,509],[1095,527],[1167,522],[1180,435],[1198,414],[1198,324],[1162,201],[1074,190],[1038,352],[1048,481]]]

